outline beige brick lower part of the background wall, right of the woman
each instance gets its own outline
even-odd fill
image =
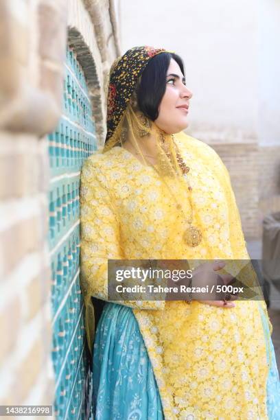
[[[211,146],[229,170],[246,239],[260,239],[264,216],[280,210],[280,147],[256,141]]]

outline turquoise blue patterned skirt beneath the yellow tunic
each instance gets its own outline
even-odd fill
[[[261,314],[268,331],[267,320],[262,311]],[[272,365],[267,382],[268,418],[279,420],[280,383],[271,338],[269,345]],[[128,306],[106,303],[97,325],[93,346],[93,412],[96,420],[164,419],[152,365],[137,319]]]

